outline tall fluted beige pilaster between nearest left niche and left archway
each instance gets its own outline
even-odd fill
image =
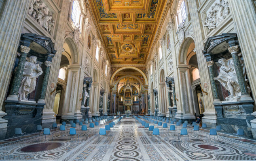
[[[43,111],[43,119],[42,119],[42,126],[47,124],[52,124],[52,122],[56,121],[56,118],[54,117],[54,112],[53,112],[53,105],[54,105],[54,100],[55,100],[55,93],[51,95],[51,83],[56,85],[58,81],[58,74],[59,74],[59,66],[61,62],[61,54],[63,50],[63,43],[65,39],[65,27],[67,23],[67,17],[68,17],[68,8],[69,8],[69,0],[63,0],[61,3],[61,12],[59,13],[59,18],[58,22],[55,23],[56,27],[56,39],[55,39],[55,44],[54,48],[57,51],[55,56],[53,57],[52,60],[52,65],[49,73],[49,80],[48,80],[48,85],[47,85],[47,91],[45,95],[45,105],[44,105],[44,111]]]

